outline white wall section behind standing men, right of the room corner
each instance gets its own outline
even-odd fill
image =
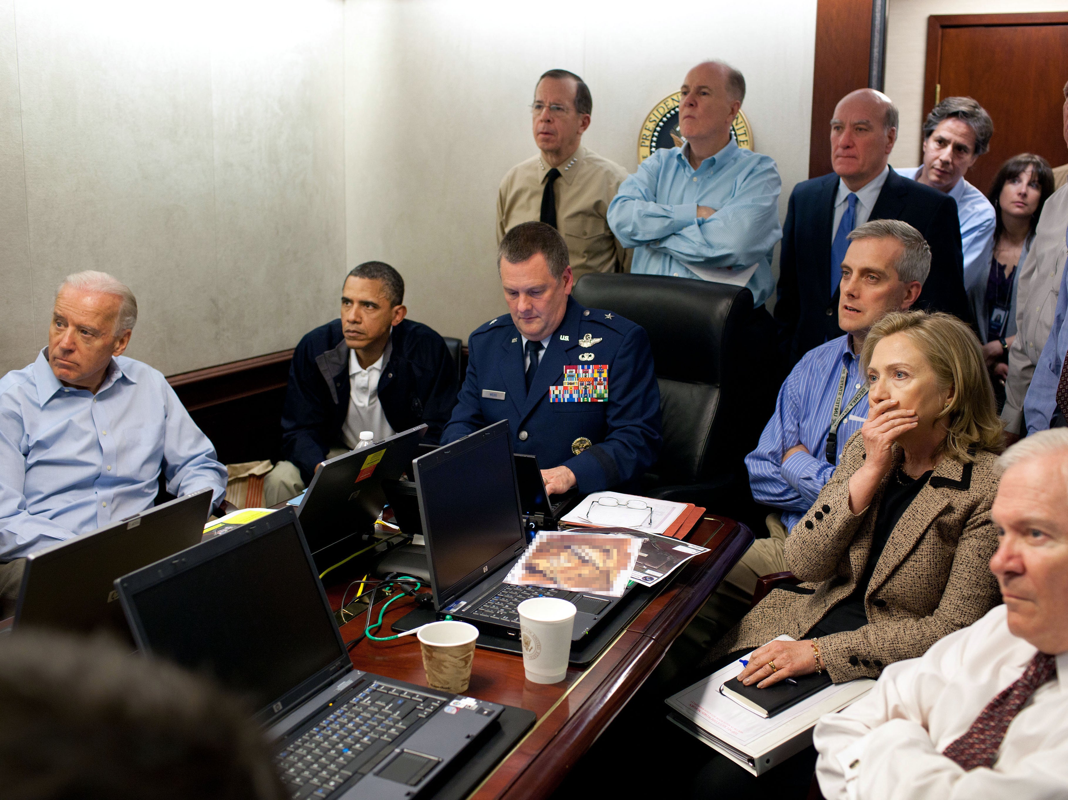
[[[497,189],[536,154],[528,106],[553,67],[594,99],[584,143],[633,172],[638,132],[686,71],[724,59],[745,75],[756,148],[807,177],[815,0],[347,0],[348,263],[404,274],[411,316],[464,339],[504,310]]]

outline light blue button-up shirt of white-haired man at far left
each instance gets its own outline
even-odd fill
[[[226,468],[167,379],[117,356],[94,396],[65,387],[47,348],[0,379],[0,561],[152,507],[167,491],[226,494]]]

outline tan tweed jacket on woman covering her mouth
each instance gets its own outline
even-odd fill
[[[904,454],[897,451],[895,466]],[[943,459],[930,481],[891,531],[876,564],[864,610],[868,624],[822,637],[820,654],[835,683],[878,677],[882,668],[923,655],[936,641],[971,625],[999,601],[990,557],[998,537],[990,506],[998,491],[995,457],[981,451],[975,463]],[[787,634],[804,634],[836,603],[849,596],[864,573],[876,510],[888,475],[871,505],[849,510],[849,478],[864,463],[860,432],[846,444],[842,462],[786,540],[786,563],[801,578],[798,594],[775,589],[713,647],[706,662],[736,650],[758,647]]]

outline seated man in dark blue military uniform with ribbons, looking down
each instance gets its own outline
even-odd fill
[[[645,331],[570,297],[567,245],[545,223],[512,228],[498,270],[511,314],[468,338],[467,378],[441,444],[507,419],[515,451],[537,457],[549,494],[632,487],[661,443]]]

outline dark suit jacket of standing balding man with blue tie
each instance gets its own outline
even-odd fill
[[[838,292],[831,293],[831,227],[837,190],[838,176],[831,173],[802,181],[790,193],[775,301],[780,355],[789,368],[813,348],[843,334]],[[891,167],[869,219],[907,222],[930,245],[930,274],[913,307],[948,311],[971,322],[956,201]]]

